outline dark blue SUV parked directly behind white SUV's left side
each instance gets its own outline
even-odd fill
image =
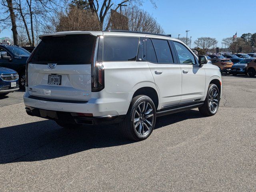
[[[25,90],[25,67],[30,52],[18,46],[0,45],[0,55],[0,66],[17,71],[20,89]]]

